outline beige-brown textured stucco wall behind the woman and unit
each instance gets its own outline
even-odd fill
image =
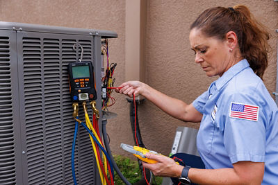
[[[136,0],[129,0],[136,1]],[[194,62],[193,51],[188,43],[189,26],[197,15],[208,7],[234,6],[238,3],[250,8],[255,17],[269,27],[272,37],[272,55],[265,73],[265,85],[270,92],[276,86],[276,59],[278,28],[278,2],[273,0],[252,1],[166,1],[147,2],[145,37],[145,79],[163,93],[192,102],[208,88],[216,78],[207,78]],[[124,82],[125,63],[125,0],[0,0],[0,20],[76,28],[113,30],[117,39],[110,39],[110,58],[117,62],[116,85]],[[129,103],[126,97],[115,94],[116,105],[111,111],[117,118],[108,121],[108,134],[114,153],[126,155],[120,143],[133,144],[129,123]],[[167,155],[172,146],[176,127],[195,123],[183,123],[161,112],[149,101],[138,107],[140,130],[147,148]]]

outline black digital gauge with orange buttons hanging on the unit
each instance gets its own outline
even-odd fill
[[[94,67],[92,62],[74,62],[67,67],[70,78],[70,95],[73,101],[95,100]]]

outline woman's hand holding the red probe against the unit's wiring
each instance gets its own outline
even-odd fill
[[[122,89],[116,89],[117,92],[132,97],[133,94],[134,96],[143,94],[147,85],[139,81],[128,81],[128,82],[124,82],[119,87],[122,87]]]

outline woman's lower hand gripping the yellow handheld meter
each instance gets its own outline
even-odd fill
[[[149,168],[149,170],[156,176],[161,177],[180,177],[183,166],[177,164],[170,157],[163,155],[155,155],[152,153],[146,153],[145,156],[149,159],[154,159],[157,161],[156,164],[147,164],[142,161],[143,167]]]

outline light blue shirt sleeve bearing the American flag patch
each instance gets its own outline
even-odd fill
[[[221,123],[224,137],[224,147],[226,148],[231,163],[238,161],[265,161],[265,117],[263,115],[263,103],[257,94],[247,94],[245,92],[234,92],[229,97],[224,98],[222,108],[224,114]],[[231,116],[233,111],[232,103],[242,105],[259,106],[258,119],[254,121],[247,116]],[[238,109],[240,110],[240,109]]]

